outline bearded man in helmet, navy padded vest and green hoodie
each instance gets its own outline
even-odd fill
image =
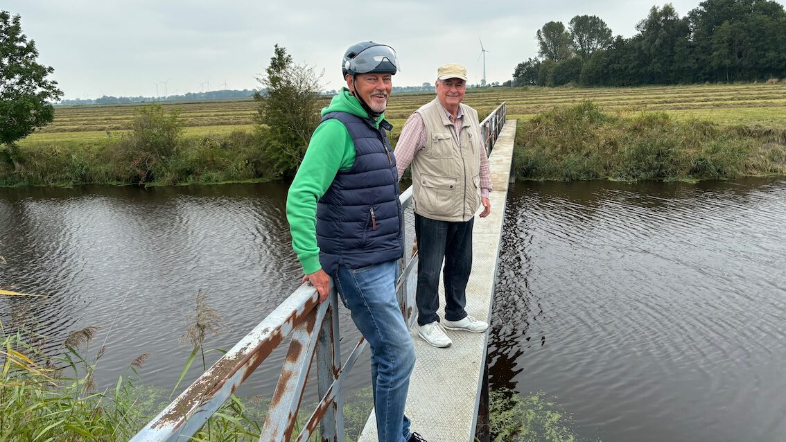
[[[347,87],[322,109],[287,196],[292,248],[325,301],[330,277],[371,347],[380,442],[419,442],[404,415],[415,351],[395,296],[403,238],[399,175],[384,119],[398,60],[390,46],[347,49]]]

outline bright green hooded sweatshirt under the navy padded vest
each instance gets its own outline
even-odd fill
[[[347,88],[341,89],[330,100],[329,106],[322,109],[322,115],[336,111],[369,118]],[[384,114],[376,119],[374,126],[378,128],[383,119]],[[287,195],[292,249],[307,275],[322,268],[317,246],[317,202],[328,191],[339,170],[347,170],[353,165],[354,142],[347,127],[337,119],[322,122],[311,136],[303,163],[300,163]]]

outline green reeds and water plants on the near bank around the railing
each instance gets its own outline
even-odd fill
[[[0,322],[0,442],[121,442],[134,437],[182,389],[185,373],[202,353],[204,339],[219,331],[218,313],[200,292],[196,311],[184,342],[193,345],[174,391],[142,383],[140,374],[148,353],[129,361],[116,382],[94,381],[105,354],[105,342],[96,345],[99,331],[85,327],[59,343],[40,334],[28,310],[17,309],[10,323]],[[259,440],[270,400],[264,396],[232,395],[191,438],[195,441],[252,442]],[[306,422],[314,404],[303,404],[299,422]],[[358,440],[372,411],[370,388],[344,396],[345,440]],[[296,432],[300,427],[296,426]],[[553,402],[538,393],[520,397],[510,391],[490,393],[490,431],[495,441],[574,440],[571,421]],[[319,440],[315,434],[310,440]]]

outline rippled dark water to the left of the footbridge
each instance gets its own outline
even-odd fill
[[[99,386],[150,353],[141,378],[171,389],[193,348],[181,337],[200,290],[223,318],[205,348],[230,349],[299,286],[286,191],[281,183],[0,189],[0,255],[7,262],[0,287],[50,295],[0,296],[0,320],[28,309],[53,352],[68,333],[99,327],[90,344],[106,345]],[[347,339],[359,336],[345,328]],[[245,393],[272,393],[284,352],[270,356]],[[208,366],[218,357],[208,354]],[[183,385],[201,371],[198,360]],[[368,377],[361,371],[354,382]]]

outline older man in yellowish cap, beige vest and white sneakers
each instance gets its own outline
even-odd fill
[[[491,177],[480,136],[478,112],[461,104],[467,70],[445,64],[437,70],[437,97],[415,111],[395,148],[399,177],[412,163],[417,264],[415,301],[418,334],[435,347],[449,347],[449,330],[483,333],[488,323],[465,311],[472,270],[472,225],[491,212]],[[445,318],[440,324],[439,271],[445,261]]]

